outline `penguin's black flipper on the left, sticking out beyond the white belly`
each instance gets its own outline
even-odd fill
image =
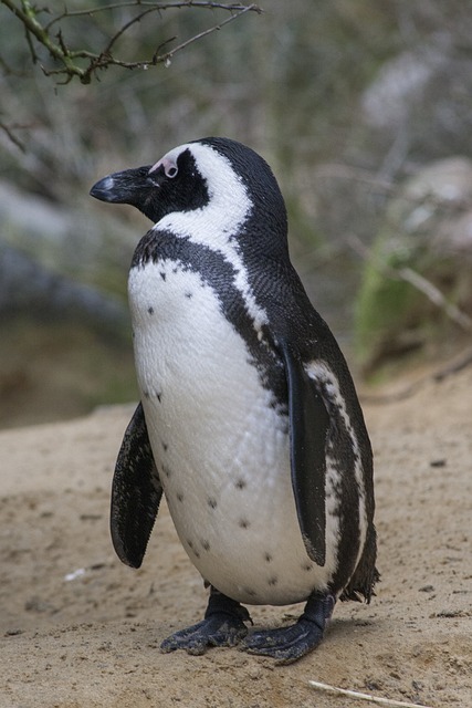
[[[112,486],[111,531],[123,563],[139,568],[162,497],[141,404],[126,428]]]

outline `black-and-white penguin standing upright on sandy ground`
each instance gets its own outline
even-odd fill
[[[113,478],[116,553],[140,566],[164,493],[209,598],[161,649],[238,644],[294,662],[379,574],[368,433],[291,263],[276,179],[251,148],[207,137],[91,195],[154,225],[128,279],[140,403]],[[294,624],[249,631],[245,605],[293,603]]]

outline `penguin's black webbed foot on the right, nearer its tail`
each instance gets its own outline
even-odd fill
[[[244,639],[241,648],[250,654],[279,659],[280,664],[296,662],[321,643],[334,605],[333,595],[313,595],[295,624],[280,629],[254,632]]]

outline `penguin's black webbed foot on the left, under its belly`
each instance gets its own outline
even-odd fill
[[[199,655],[209,646],[235,646],[248,634],[244,622],[252,623],[248,610],[212,589],[204,620],[171,634],[160,648],[166,653],[185,649]]]

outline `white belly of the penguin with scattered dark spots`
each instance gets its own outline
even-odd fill
[[[198,272],[164,260],[132,269],[129,301],[149,440],[195,566],[248,604],[290,604],[326,591],[337,519],[327,514],[321,568],[306,553],[296,517],[287,416],[262,385],[218,293]]]

